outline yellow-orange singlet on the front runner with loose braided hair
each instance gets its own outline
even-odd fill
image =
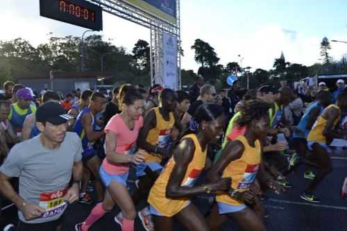
[[[234,160],[228,164],[223,171],[223,178],[232,179],[232,189],[237,191],[246,191],[249,189],[260,166],[262,159],[262,151],[259,140],[255,141],[255,147],[251,147],[244,136],[239,136],[236,140],[244,144],[244,153],[238,160]],[[228,205],[243,205],[231,196],[223,192],[216,196],[217,202],[226,203]]]

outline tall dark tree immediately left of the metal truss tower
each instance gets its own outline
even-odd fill
[[[144,40],[138,40],[133,48],[133,60],[135,67],[141,71],[149,72],[150,67],[150,47]]]

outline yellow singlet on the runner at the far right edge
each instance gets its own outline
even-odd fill
[[[336,126],[336,124],[339,122],[341,117],[341,110],[335,104],[329,105],[327,108],[325,108],[325,110],[328,110],[328,108],[336,108],[337,110],[339,110],[339,117],[335,119],[334,121],[334,126]],[[326,137],[323,136],[323,130],[326,126],[326,123],[327,123],[327,120],[324,119],[322,116],[319,116],[316,122],[314,123],[314,125],[312,126],[311,132],[309,133],[307,137],[307,141],[326,144]]]

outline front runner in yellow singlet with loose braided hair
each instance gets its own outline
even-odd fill
[[[264,231],[265,225],[249,206],[255,205],[260,191],[251,188],[257,177],[268,187],[282,191],[273,177],[264,171],[261,140],[269,129],[269,104],[259,100],[245,103],[237,123],[246,126],[244,135],[229,141],[221,158],[208,173],[208,182],[232,178],[228,192],[218,192],[217,203],[208,217],[210,230],[219,230],[226,216],[233,219],[242,230]],[[260,174],[257,174],[257,172]]]

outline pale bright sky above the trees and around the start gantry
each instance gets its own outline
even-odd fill
[[[347,42],[346,0],[180,0],[184,69],[197,71],[190,48],[201,39],[214,47],[219,63],[271,69],[283,51],[287,62],[313,65],[320,60],[323,37]],[[0,1],[0,40],[22,37],[37,46],[54,36],[81,36],[85,28],[40,17],[39,0]],[[131,52],[137,40],[149,42],[149,30],[103,12],[103,35]],[[88,34],[87,34],[88,35]],[[331,42],[339,60],[347,44]],[[242,59],[241,59],[241,58]]]

